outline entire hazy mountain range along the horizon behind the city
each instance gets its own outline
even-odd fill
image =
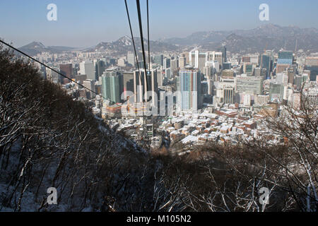
[[[134,37],[137,51],[141,51],[140,37]],[[148,49],[148,40],[144,39],[145,49]],[[151,52],[170,52],[182,49],[199,47],[200,49],[217,49],[226,46],[230,52],[262,52],[264,49],[294,50],[303,49],[308,52],[318,52],[317,28],[298,28],[296,26],[283,27],[266,24],[251,30],[208,31],[194,32],[187,37],[173,37],[150,41]],[[134,51],[130,37],[124,36],[114,42],[100,42],[94,47],[78,49],[72,47],[45,47],[41,42],[32,42],[21,51],[31,55],[40,52],[60,53],[73,50],[83,52],[111,52],[113,55],[122,55]]]

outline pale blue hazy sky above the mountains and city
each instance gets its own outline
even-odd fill
[[[139,36],[136,1],[127,1],[134,35]],[[57,21],[47,20],[52,3],[57,5]],[[269,21],[259,20],[260,4],[269,5]],[[146,28],[146,0],[141,6]],[[149,7],[151,40],[265,23],[318,28],[317,0],[149,0]],[[90,47],[130,36],[124,0],[1,0],[0,20],[0,37],[16,47],[33,41]]]

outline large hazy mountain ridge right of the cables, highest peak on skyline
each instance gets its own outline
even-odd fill
[[[202,49],[215,49],[226,45],[230,52],[259,52],[281,48],[318,52],[318,30],[316,28],[282,27],[266,24],[251,30],[194,32],[183,38],[169,38],[160,41],[181,46],[199,46]]]

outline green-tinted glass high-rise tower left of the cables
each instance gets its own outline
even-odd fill
[[[102,97],[111,103],[121,102],[124,90],[122,72],[118,69],[107,69],[102,75]]]

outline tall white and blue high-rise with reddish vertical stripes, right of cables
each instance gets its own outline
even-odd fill
[[[192,66],[179,71],[179,87],[181,109],[197,110],[201,108],[201,73]]]

